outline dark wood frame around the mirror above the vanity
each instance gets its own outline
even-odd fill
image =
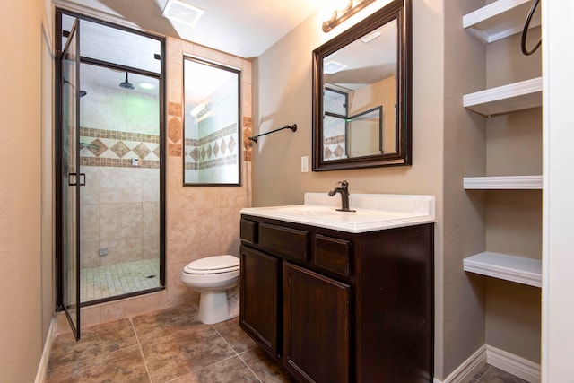
[[[313,51],[313,171],[412,164],[411,0],[395,0]],[[396,152],[325,161],[323,159],[323,60],[373,30],[397,22]]]

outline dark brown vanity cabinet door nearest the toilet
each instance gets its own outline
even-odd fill
[[[274,358],[279,356],[279,260],[241,246],[239,325]]]

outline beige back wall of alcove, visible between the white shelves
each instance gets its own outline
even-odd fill
[[[528,32],[534,47],[540,29]],[[520,34],[487,47],[486,82],[495,87],[540,76],[541,51],[520,52]],[[486,119],[486,174],[542,174],[542,108]],[[541,258],[542,192],[491,191],[486,197],[486,249],[522,257]],[[540,363],[541,291],[538,288],[488,279],[486,282],[488,344]]]

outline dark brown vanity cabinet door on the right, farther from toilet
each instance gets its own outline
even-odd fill
[[[284,364],[301,381],[349,381],[350,287],[283,264]]]

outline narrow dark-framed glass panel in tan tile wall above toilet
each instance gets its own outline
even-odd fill
[[[239,186],[239,70],[184,57],[184,186]]]

